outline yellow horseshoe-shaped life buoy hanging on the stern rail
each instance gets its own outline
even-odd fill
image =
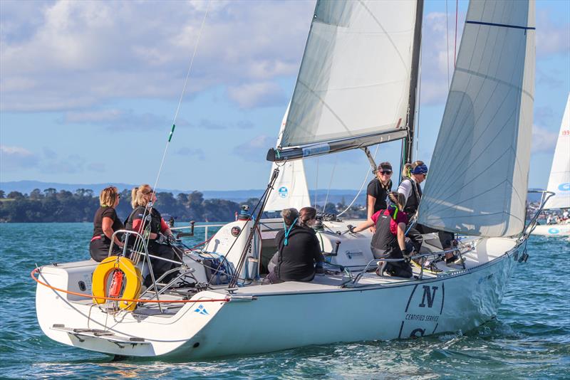
[[[104,298],[98,297],[108,297],[107,281],[115,270],[121,270],[125,274],[124,281],[126,283],[122,298],[127,300],[138,299],[140,295],[140,285],[142,284],[140,269],[128,258],[123,256],[109,256],[101,261],[93,271],[93,285],[91,285],[93,302],[98,304],[105,303],[106,300]],[[119,302],[119,307],[128,311],[135,310],[136,306],[137,302]]]

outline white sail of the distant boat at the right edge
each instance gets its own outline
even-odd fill
[[[570,208],[570,95],[566,100],[566,110],[562,117],[546,190],[556,195],[546,202],[545,209]]]

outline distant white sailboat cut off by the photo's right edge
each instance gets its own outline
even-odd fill
[[[570,95],[566,100],[546,190],[554,193],[554,196],[546,201],[544,210],[570,211]],[[536,226],[532,233],[540,236],[570,236],[570,219]]]

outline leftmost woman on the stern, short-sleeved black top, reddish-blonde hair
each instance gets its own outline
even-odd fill
[[[95,211],[93,238],[89,243],[89,253],[95,261],[100,262],[108,257],[113,233],[124,228],[115,211],[119,200],[120,194],[115,186],[109,186],[101,190],[99,194],[100,207]],[[114,240],[113,254],[117,254],[120,252],[120,248],[123,248],[123,242],[117,236]]]

